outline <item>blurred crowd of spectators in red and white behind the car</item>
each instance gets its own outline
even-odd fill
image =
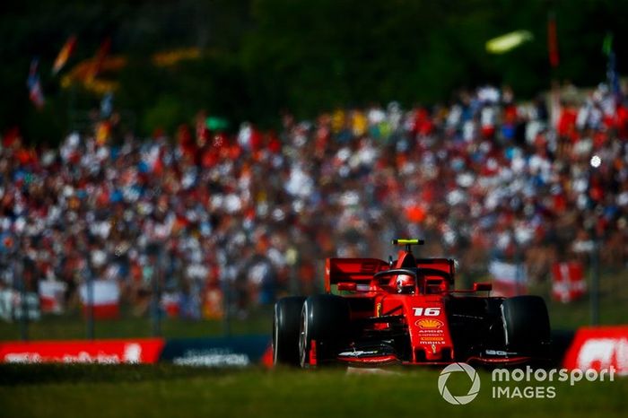
[[[559,101],[560,100],[560,101]],[[552,109],[554,107],[554,109]],[[552,115],[552,116],[551,116]],[[216,318],[281,294],[316,292],[325,257],[388,257],[396,237],[463,275],[494,258],[545,280],[552,262],[623,267],[628,107],[606,86],[515,101],[508,87],[449,105],[283,114],[278,132],[196,126],[142,140],[117,115],[58,148],[0,149],[0,287],[115,281],[136,315]],[[23,278],[23,282],[22,282]]]

